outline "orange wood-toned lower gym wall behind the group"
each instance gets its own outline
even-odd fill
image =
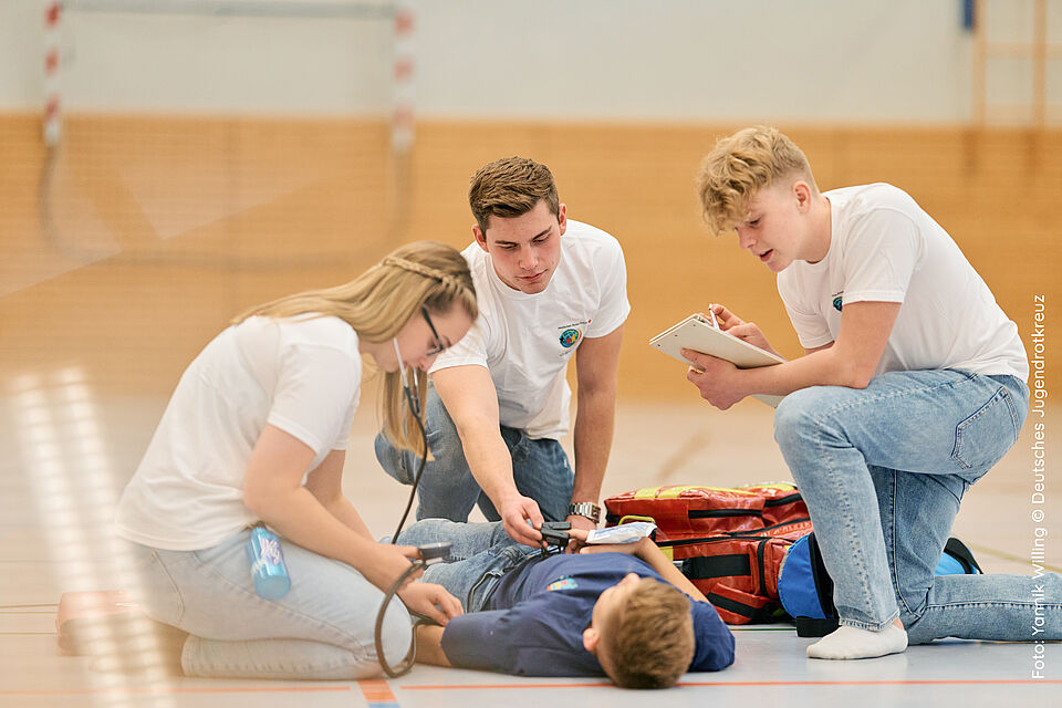
[[[700,226],[697,164],[737,127],[433,121],[399,164],[379,122],[72,116],[42,222],[39,118],[0,115],[0,371],[77,364],[108,391],[167,393],[248,305],[345,280],[400,241],[466,244],[469,176],[519,154],[552,168],[572,218],[624,246],[623,398],[688,397],[681,366],[645,342],[709,302],[800,352],[772,275]],[[780,127],[823,189],[909,191],[1029,346],[1034,295],[1049,317],[1062,296],[1062,132]]]

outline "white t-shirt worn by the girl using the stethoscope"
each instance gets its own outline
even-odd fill
[[[195,551],[253,524],[243,477],[266,425],[312,448],[313,470],[346,448],[361,377],[357,334],[337,317],[250,317],[225,330],[180,377],[122,494],[118,535]]]

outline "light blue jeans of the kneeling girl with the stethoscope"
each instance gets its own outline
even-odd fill
[[[374,644],[384,593],[356,570],[282,541],[291,590],[254,592],[244,544],[250,530],[202,551],[131,543],[142,580],[137,601],[153,620],[189,633],[189,676],[358,679],[381,673]],[[382,629],[387,662],[409,649],[410,621],[395,598]]]

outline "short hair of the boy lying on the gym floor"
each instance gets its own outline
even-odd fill
[[[643,577],[625,602],[602,618],[597,660],[623,688],[668,688],[694,660],[689,598]]]

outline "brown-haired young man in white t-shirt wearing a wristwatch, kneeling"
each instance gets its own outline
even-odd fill
[[[419,483],[417,518],[466,521],[478,502],[513,540],[537,545],[543,519],[587,530],[598,520],[631,311],[626,267],[616,239],[568,218],[545,165],[490,163],[472,177],[469,202],[475,241],[462,254],[480,316],[430,369],[434,460]],[[570,427],[572,360],[574,472],[560,444]],[[420,461],[383,435],[376,458],[407,485]]]

